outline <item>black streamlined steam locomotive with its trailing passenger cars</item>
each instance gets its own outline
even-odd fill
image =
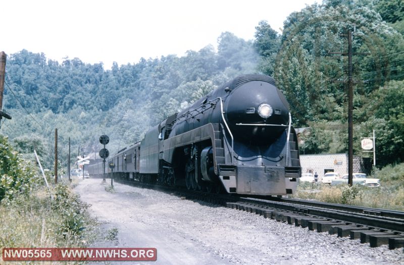
[[[118,151],[106,172],[190,190],[291,194],[301,168],[288,108],[272,77],[239,76]],[[102,176],[102,163],[87,169]]]

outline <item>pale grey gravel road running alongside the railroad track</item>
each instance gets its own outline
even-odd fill
[[[157,261],[97,264],[404,263],[402,248],[370,248],[359,240],[119,183],[111,193],[101,183],[85,179],[75,188],[102,223],[102,236],[92,247],[155,247]]]

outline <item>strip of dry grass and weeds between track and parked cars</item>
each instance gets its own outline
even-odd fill
[[[404,211],[404,163],[375,170],[369,178],[379,178],[381,186],[349,187],[301,182],[293,197]]]

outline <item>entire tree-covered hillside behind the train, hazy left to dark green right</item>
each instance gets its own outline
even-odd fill
[[[217,50],[207,46],[184,57],[115,63],[111,69],[78,58],[59,63],[27,50],[9,55],[4,107],[13,119],[0,132],[27,156],[35,146],[51,167],[58,128],[65,164],[69,137],[74,154],[79,148],[88,154],[98,151],[98,137],[106,133],[108,148],[116,152],[227,80],[264,73],[275,77],[288,98],[294,126],[312,128],[301,152],[344,152],[347,58],[332,52],[346,52],[340,33],[349,28],[355,30],[355,153],[362,155],[360,138],[375,129],[378,164],[404,161],[402,2],[323,4],[290,14],[281,35],[261,21],[254,40],[224,32]]]

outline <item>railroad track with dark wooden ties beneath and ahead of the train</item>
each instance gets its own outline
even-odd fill
[[[202,200],[244,210],[290,225],[328,232],[338,237],[359,239],[371,247],[388,244],[390,249],[404,247],[404,212],[358,207],[290,198],[249,198],[228,194],[189,191],[154,184],[116,180],[132,186],[174,193],[191,200]]]

